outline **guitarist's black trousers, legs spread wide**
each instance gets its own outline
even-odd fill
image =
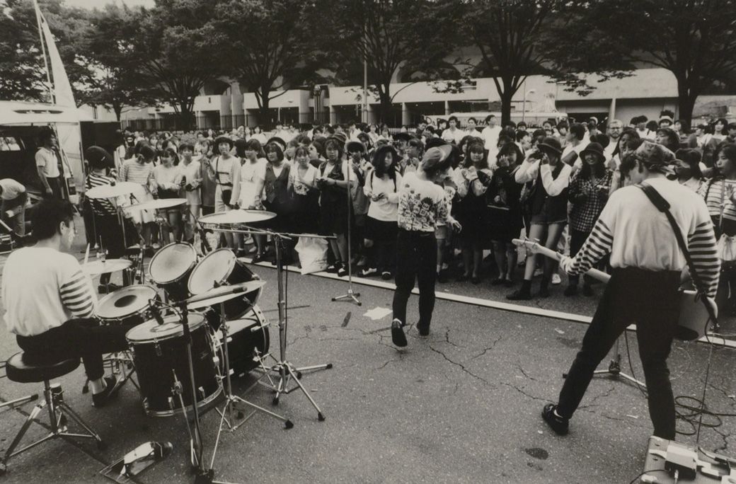
[[[557,408],[561,416],[573,416],[598,363],[626,327],[635,323],[654,435],[675,438],[675,403],[667,358],[679,318],[679,282],[677,271],[613,269],[583,346],[562,385]]]

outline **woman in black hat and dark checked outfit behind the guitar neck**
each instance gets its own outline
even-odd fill
[[[589,143],[580,152],[583,167],[570,180],[567,196],[573,204],[570,210],[570,257],[580,252],[583,243],[601,215],[611,190],[612,171],[606,169],[606,155],[599,143]],[[570,276],[565,296],[578,292],[578,276]],[[584,277],[583,293],[592,296],[590,279]]]

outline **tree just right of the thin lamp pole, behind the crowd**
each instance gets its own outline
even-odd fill
[[[381,102],[379,116],[392,109],[395,77],[411,81],[447,74],[445,57],[456,24],[436,21],[439,4],[429,0],[326,1],[326,25],[319,31],[323,49],[335,54],[337,76],[355,61],[367,61],[368,78]],[[457,4],[457,2],[454,2]]]

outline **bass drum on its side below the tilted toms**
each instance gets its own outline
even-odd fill
[[[252,369],[260,366],[256,355],[266,355],[269,351],[269,328],[266,316],[261,308],[252,307],[250,313],[241,319],[227,321],[227,355],[230,357],[230,371],[234,378],[242,377]],[[214,339],[219,349],[220,373],[224,374],[224,349],[222,331],[214,332]]]

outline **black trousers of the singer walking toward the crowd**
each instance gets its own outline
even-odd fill
[[[434,310],[434,282],[437,277],[437,241],[434,232],[399,229],[396,238],[396,291],[394,318],[406,323],[406,303],[415,280],[419,280],[419,323],[429,328]]]

